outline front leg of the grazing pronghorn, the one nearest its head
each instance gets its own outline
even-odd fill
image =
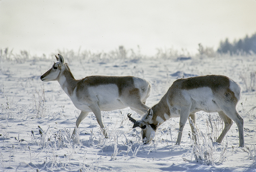
[[[183,107],[180,111],[180,123],[179,123],[180,128],[179,128],[177,142],[175,145],[180,145],[183,128],[184,128],[184,126],[188,120],[188,117],[189,117],[189,110],[190,110],[190,108]]]

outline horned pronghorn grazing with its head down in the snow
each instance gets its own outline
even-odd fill
[[[176,145],[179,145],[184,125],[189,117],[195,123],[195,112],[218,112],[225,126],[217,142],[222,142],[235,121],[239,132],[239,146],[244,147],[243,118],[236,111],[240,96],[240,86],[226,76],[206,75],[178,79],[173,82],[160,102],[149,109],[141,120],[135,120],[129,114],[128,118],[134,123],[132,128],[142,129],[142,137],[146,138],[148,143],[153,139],[150,137],[151,133],[156,131],[159,125],[172,117],[180,117],[176,142]],[[195,133],[193,124],[190,123],[190,127],[192,133]]]

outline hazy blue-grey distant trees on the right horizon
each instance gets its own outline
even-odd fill
[[[239,41],[234,41],[230,43],[228,38],[224,42],[220,42],[220,47],[217,50],[218,53],[230,53],[233,54],[256,54],[256,33],[251,37],[248,35],[244,39],[239,39]]]

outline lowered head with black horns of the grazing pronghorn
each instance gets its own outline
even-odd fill
[[[152,117],[153,117],[153,110],[149,109],[148,112],[145,114],[145,116],[141,120],[135,120],[134,118],[131,117],[131,114],[127,115],[129,120],[133,122],[133,127],[140,127],[141,128],[141,133],[142,133],[142,139],[146,138],[146,143],[149,143],[152,141],[154,137],[151,136],[153,134],[152,132],[156,132],[157,125],[153,124]],[[154,134],[153,134],[154,136]]]

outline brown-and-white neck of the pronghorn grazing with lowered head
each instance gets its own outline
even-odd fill
[[[165,96],[164,96],[165,97]],[[154,125],[159,126],[166,120],[170,119],[170,110],[164,97],[158,104],[152,107],[153,117],[152,122]]]

